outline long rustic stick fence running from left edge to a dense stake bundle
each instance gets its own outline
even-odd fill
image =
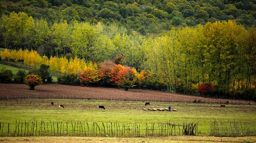
[[[198,123],[88,123],[31,121],[15,124],[0,122],[1,137],[87,136],[87,137],[152,137],[197,135]]]

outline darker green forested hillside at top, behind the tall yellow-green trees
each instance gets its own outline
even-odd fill
[[[161,34],[173,26],[234,20],[255,24],[255,0],[2,0],[0,14],[24,12],[34,19],[116,23],[142,35]]]

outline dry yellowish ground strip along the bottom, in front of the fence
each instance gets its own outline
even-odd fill
[[[256,137],[147,137],[147,138],[114,138],[114,137],[1,137],[0,142],[256,142]]]

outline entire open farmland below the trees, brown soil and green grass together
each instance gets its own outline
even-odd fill
[[[0,139],[1,142],[256,141],[256,106],[255,102],[252,101],[218,100],[149,90],[129,89],[129,91],[124,91],[122,89],[65,85],[40,85],[35,87],[35,91],[28,90],[29,87],[26,85],[0,84],[0,87],[0,135],[3,136]],[[194,100],[201,100],[203,103],[193,103]],[[221,108],[220,105],[225,104],[226,101],[231,104],[226,104],[226,108]],[[54,102],[54,105],[51,105],[51,102]],[[150,105],[145,106],[145,102],[150,102]],[[65,108],[59,108],[59,104],[63,104]],[[98,109],[99,105],[104,105],[106,109]],[[172,105],[172,109],[177,109],[178,112],[143,111],[143,108],[168,108],[169,105]],[[182,133],[179,133],[179,127],[177,126],[176,134],[162,135],[161,133],[159,135],[157,131],[165,123],[183,124],[192,122],[198,123],[197,135],[180,135]],[[16,135],[19,133],[17,135],[19,137],[6,137],[8,136],[6,135],[8,123],[9,136],[12,136],[19,129],[19,132],[16,132]],[[17,123],[20,123],[19,126],[17,126]],[[42,123],[45,125],[42,126]],[[125,126],[125,129],[131,127],[133,130],[128,132],[131,134],[130,137],[127,130],[125,137],[122,137],[120,132],[117,133],[117,130],[113,135],[107,134],[109,137],[99,136],[97,131],[97,135],[91,137],[86,136],[88,134],[85,135],[83,129],[80,131],[80,124],[87,123],[90,127],[89,130],[94,129],[94,123],[99,126],[104,124],[106,128],[109,126],[106,130],[108,134],[110,125],[111,127],[120,126],[121,131],[123,126]],[[232,125],[224,126],[223,123]],[[26,137],[27,134],[24,133],[25,126],[28,126],[27,129],[31,131],[33,124],[34,127],[37,126],[37,132],[42,130],[41,133],[46,131],[47,134],[37,133],[33,137]],[[57,124],[59,124],[59,129],[56,127]],[[152,129],[153,124],[156,130],[155,134],[146,134],[146,126]],[[214,127],[212,124],[216,124],[216,126]],[[55,126],[55,129],[51,126]],[[227,128],[229,131],[230,129],[233,130],[234,126],[241,127],[239,133],[243,132],[242,130],[250,130],[250,133],[254,136],[243,137],[243,134],[239,134],[240,137],[222,137],[222,135],[213,137],[209,134],[210,130],[225,129],[226,131]],[[133,132],[134,127],[138,127],[137,129],[140,130],[139,135]],[[77,130],[74,131],[74,128]],[[102,130],[102,126],[100,129]],[[53,135],[52,132],[62,134]],[[52,136],[61,136],[61,138]],[[224,136],[226,135],[224,134]]]

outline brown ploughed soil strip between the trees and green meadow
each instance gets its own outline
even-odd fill
[[[162,91],[129,89],[111,89],[104,87],[81,87],[67,85],[39,85],[35,90],[29,90],[29,86],[20,84],[1,84],[0,100],[13,98],[75,98],[98,100],[127,100],[127,101],[161,101],[161,102],[193,102],[201,100],[205,103],[225,104],[253,104],[252,101],[227,100],[187,96]]]

